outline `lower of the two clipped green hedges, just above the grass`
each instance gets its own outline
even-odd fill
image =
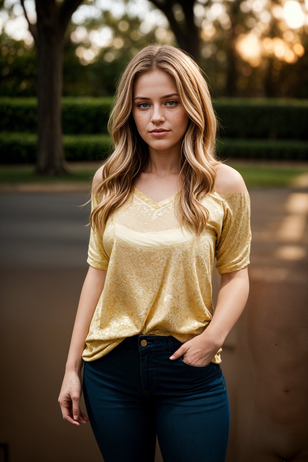
[[[112,152],[109,135],[64,135],[65,157],[69,161],[103,160]],[[2,164],[32,164],[36,162],[36,135],[0,132]],[[221,159],[262,158],[308,160],[308,143],[296,140],[238,140],[217,141]]]

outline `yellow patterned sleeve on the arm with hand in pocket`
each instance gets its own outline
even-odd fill
[[[251,229],[248,192],[225,193],[224,217],[215,256],[218,274],[231,273],[249,264]]]

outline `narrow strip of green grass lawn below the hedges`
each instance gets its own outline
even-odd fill
[[[294,180],[303,174],[308,175],[308,164],[279,165],[258,164],[236,160],[227,161],[227,164],[239,171],[244,178],[247,187],[286,187],[292,186]],[[0,183],[56,183],[56,182],[88,182],[91,180],[99,164],[92,162],[70,163],[71,175],[59,175],[48,177],[34,175],[34,165],[0,165]]]

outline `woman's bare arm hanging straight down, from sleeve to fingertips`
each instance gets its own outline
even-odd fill
[[[93,313],[103,292],[106,274],[107,270],[89,266],[79,298],[65,375],[58,398],[63,419],[78,426],[88,421],[79,406],[82,394],[82,352],[85,349],[85,339],[89,332]]]

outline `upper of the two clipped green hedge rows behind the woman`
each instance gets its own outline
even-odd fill
[[[107,134],[111,97],[62,98],[64,134]],[[307,140],[308,100],[221,98],[219,137]],[[36,98],[0,98],[1,130],[36,132]]]

